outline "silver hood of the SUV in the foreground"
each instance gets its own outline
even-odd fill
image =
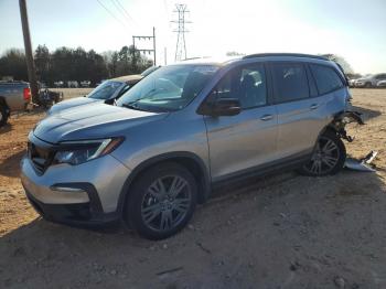
[[[33,133],[51,143],[119,137],[125,136],[130,127],[160,120],[168,115],[169,113],[140,111],[105,104],[78,106],[44,118]]]

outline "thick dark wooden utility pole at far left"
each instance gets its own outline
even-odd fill
[[[35,64],[33,62],[32,44],[31,44],[31,35],[30,35],[30,26],[29,26],[28,13],[26,13],[25,0],[19,0],[19,7],[20,7],[21,25],[23,28],[25,60],[26,60],[26,68],[29,74],[29,82],[31,85],[32,101],[34,104],[39,104],[36,71],[35,71]]]

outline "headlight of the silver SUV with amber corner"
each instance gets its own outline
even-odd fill
[[[65,141],[61,143],[61,149],[55,153],[53,163],[81,164],[110,153],[122,141],[124,138]]]

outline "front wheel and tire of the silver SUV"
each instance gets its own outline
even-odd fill
[[[196,181],[189,170],[172,162],[157,164],[141,173],[131,186],[124,221],[142,237],[168,238],[191,220],[196,200]]]

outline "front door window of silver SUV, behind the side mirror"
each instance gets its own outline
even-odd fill
[[[243,109],[267,104],[266,74],[262,65],[236,68],[227,73],[215,90],[222,98],[238,98]]]

